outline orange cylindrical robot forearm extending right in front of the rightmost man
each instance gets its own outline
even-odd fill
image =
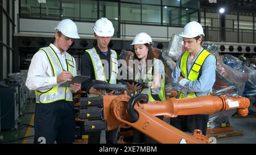
[[[238,114],[246,116],[250,100],[245,97],[216,97],[205,95],[195,98],[183,98],[162,102],[148,102],[139,107],[152,115],[166,115],[175,118],[178,115],[213,114],[216,111],[237,109]]]

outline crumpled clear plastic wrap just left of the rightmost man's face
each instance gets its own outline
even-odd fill
[[[179,56],[183,53],[182,47],[183,37],[173,34],[168,47],[163,49],[162,53],[165,53],[165,55],[172,58],[172,60],[177,61]]]

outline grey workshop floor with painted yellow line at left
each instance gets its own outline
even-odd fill
[[[30,112],[34,112],[35,103],[29,103],[26,112],[28,114],[24,114],[20,117],[20,124],[30,124],[34,125],[34,114]],[[256,111],[256,107],[252,106],[251,110]],[[254,143],[256,144],[256,117],[254,118],[234,118],[230,117],[229,122],[234,128],[235,131],[242,130],[243,136],[234,136],[234,137],[225,137],[221,139],[217,139],[217,144],[247,144]],[[3,136],[3,141],[15,140],[24,136],[33,136],[34,128],[29,127],[28,125],[22,125],[22,127],[16,131],[5,131],[1,132],[0,135]],[[32,144],[34,138],[30,137],[28,139],[10,141],[11,144]],[[0,141],[1,143],[1,141]],[[105,131],[101,132],[101,144],[105,144]]]

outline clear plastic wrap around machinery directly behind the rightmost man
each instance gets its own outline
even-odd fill
[[[203,43],[203,48],[216,56],[216,81],[213,85],[212,95],[224,95],[234,97],[242,95],[245,88],[245,82],[248,81],[248,76],[245,73],[239,72],[236,69],[224,64],[218,55],[218,47],[215,44]],[[228,127],[229,116],[236,113],[236,110],[220,111],[209,115],[208,128]]]

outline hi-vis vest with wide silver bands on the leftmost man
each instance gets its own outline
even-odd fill
[[[48,60],[52,66],[53,77],[59,76],[63,72],[63,66],[60,63],[55,51],[51,47],[40,48],[46,53]],[[69,53],[66,53],[67,70],[75,76],[75,63]],[[35,91],[36,103],[52,103],[57,100],[72,101],[72,90],[70,87],[58,87],[53,86],[51,89],[45,92]]]

